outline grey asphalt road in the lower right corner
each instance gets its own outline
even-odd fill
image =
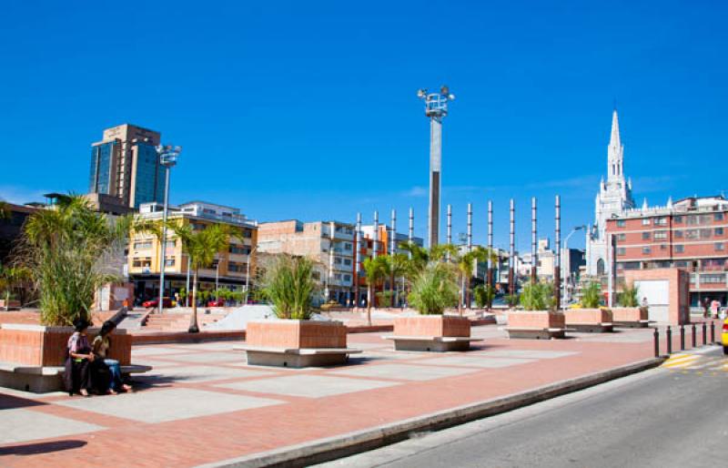
[[[705,358],[722,355],[713,348]],[[642,372],[321,466],[728,466],[728,367],[693,367]]]

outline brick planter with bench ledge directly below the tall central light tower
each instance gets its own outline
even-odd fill
[[[397,351],[468,351],[470,341],[480,341],[470,338],[470,319],[453,315],[398,317],[385,339]]]

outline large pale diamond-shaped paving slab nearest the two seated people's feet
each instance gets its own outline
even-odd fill
[[[283,402],[268,398],[193,389],[122,393],[116,396],[56,402],[78,410],[149,423],[237,412],[281,403]]]

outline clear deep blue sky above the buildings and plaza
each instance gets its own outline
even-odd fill
[[[721,2],[12,2],[0,18],[0,198],[87,188],[90,144],[124,122],[183,146],[172,201],[253,219],[374,209],[425,234],[429,124],[450,86],[443,211],[518,244],[531,196],[552,237],[593,219],[616,99],[638,203],[728,189]],[[589,5],[586,5],[589,4]],[[444,225],[444,221],[443,221]],[[581,238],[581,236],[580,236]],[[575,245],[583,245],[578,239]]]

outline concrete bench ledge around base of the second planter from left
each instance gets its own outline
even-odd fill
[[[249,365],[295,368],[345,364],[349,354],[361,352],[352,348],[268,348],[248,345],[234,346],[233,350],[246,351]]]

